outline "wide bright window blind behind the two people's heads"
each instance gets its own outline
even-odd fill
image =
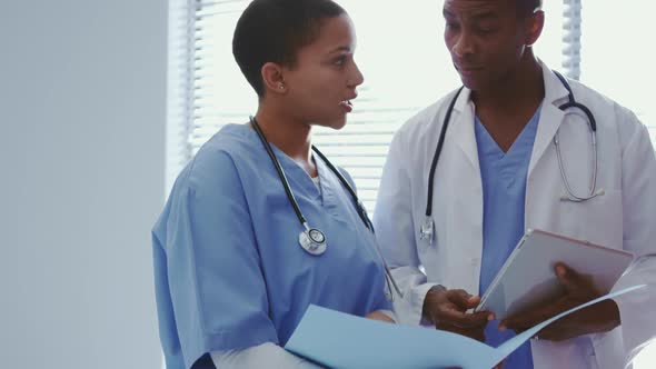
[[[257,109],[257,97],[231,53],[237,19],[249,1],[189,1],[186,159],[223,124],[243,123]],[[314,143],[349,171],[371,212],[394,132],[460,81],[443,41],[441,1],[376,1],[375,14],[371,1],[338,2],[356,27],[356,61],[365,83],[347,126],[315,129]],[[580,10],[569,2],[546,1],[547,26],[535,48],[549,67],[577,78]]]

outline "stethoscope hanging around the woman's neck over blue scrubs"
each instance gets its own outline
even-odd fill
[[[265,146],[265,149],[267,150],[267,153],[269,154],[269,158],[271,159],[274,167],[276,167],[276,171],[278,172],[278,177],[280,178],[280,182],[282,183],[282,187],[285,188],[285,192],[287,193],[287,199],[289,200],[289,203],[294,208],[294,212],[296,213],[298,221],[300,222],[300,225],[304,228],[304,230],[298,235],[298,243],[300,245],[300,247],[304,250],[306,250],[308,253],[310,253],[312,256],[324,255],[324,252],[326,252],[326,249],[328,248],[328,243],[326,241],[326,235],[321,230],[319,230],[317,228],[311,228],[308,225],[307,219],[304,217],[302,212],[300,211],[300,208],[298,207],[298,202],[296,201],[296,197],[294,196],[294,192],[291,191],[291,187],[289,186],[289,181],[287,180],[287,177],[285,176],[285,171],[282,170],[282,167],[280,166],[278,158],[276,158],[276,154],[274,153],[274,149],[271,148],[271,144],[269,143],[269,141],[267,141],[267,138],[265,137],[265,132],[262,132],[259,123],[257,122],[257,120],[254,117],[250,118],[250,124],[252,126],[252,128],[257,132],[262,144]],[[319,158],[321,158],[321,160],[326,163],[326,166],[330,169],[330,171],[332,173],[335,173],[335,176],[337,176],[337,179],[339,179],[341,184],[346,188],[346,190],[350,195],[351,199],[354,200],[354,203],[356,207],[356,212],[360,217],[360,220],[362,220],[362,222],[365,223],[365,227],[367,227],[367,229],[374,233],[374,225],[371,223],[371,220],[369,220],[369,217],[367,216],[367,210],[365,209],[365,207],[362,206],[362,203],[358,199],[358,196],[356,195],[356,191],[352,189],[350,183],[346,180],[346,178],[341,174],[341,172],[328,160],[328,158],[326,158],[326,156],[324,153],[321,153],[321,151],[319,151],[319,149],[317,149],[317,147],[314,144],[312,144],[312,151],[317,156],[319,156]],[[385,279],[386,279],[386,285],[387,285],[387,290],[386,290],[385,295],[387,296],[388,299],[392,300],[394,293],[391,291],[391,288],[394,287],[395,291],[399,295],[399,297],[402,298],[402,293],[401,293],[400,289],[398,288],[396,280],[391,276],[391,272],[389,271],[389,268],[387,267],[387,263],[385,262],[382,255],[380,255],[380,251],[378,250],[378,246],[376,246],[375,249],[376,249],[375,250],[376,253],[378,255],[378,257],[382,261],[382,266],[385,268]]]

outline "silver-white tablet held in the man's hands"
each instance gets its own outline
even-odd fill
[[[608,293],[632,263],[630,252],[529,229],[519,240],[476,311],[493,311],[497,319],[549,301],[563,293],[554,270],[560,261],[592,278],[599,293]]]

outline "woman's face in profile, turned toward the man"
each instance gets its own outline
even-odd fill
[[[285,102],[295,119],[340,129],[352,110],[362,73],[356,66],[356,34],[342,14],[321,21],[318,38],[297,53],[296,64],[284,68]]]

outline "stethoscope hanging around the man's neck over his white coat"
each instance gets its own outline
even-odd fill
[[[588,128],[590,131],[592,146],[593,146],[593,172],[590,176],[590,186],[589,186],[590,190],[589,190],[588,195],[576,195],[571,190],[571,187],[569,186],[569,181],[567,180],[566,168],[565,168],[565,163],[563,162],[563,154],[560,153],[560,141],[559,141],[558,131],[556,131],[556,134],[554,136],[554,146],[556,147],[556,157],[558,159],[558,168],[560,169],[560,178],[563,179],[563,186],[565,187],[565,191],[567,192],[567,193],[563,193],[560,196],[560,200],[561,201],[573,201],[573,202],[584,202],[584,201],[590,200],[593,198],[596,198],[597,196],[602,196],[605,193],[604,189],[597,190],[597,156],[598,156],[598,152],[597,152],[597,122],[596,122],[595,116],[593,114],[590,109],[588,109],[586,106],[577,102],[574,99],[574,92],[571,92],[571,87],[569,86],[569,83],[567,83],[567,80],[565,79],[565,77],[563,77],[557,71],[554,71],[554,73],[560,80],[560,82],[563,83],[565,89],[567,90],[568,101],[560,104],[558,107],[558,109],[560,109],[565,112],[567,111],[567,109],[571,109],[571,108],[583,111],[583,113],[587,118]],[[435,182],[435,171],[437,168],[437,162],[439,160],[439,156],[441,153],[441,149],[444,147],[446,132],[447,132],[447,128],[448,128],[450,119],[451,119],[451,113],[454,112],[454,107],[456,106],[456,101],[458,100],[460,92],[463,92],[463,89],[464,89],[464,87],[460,87],[458,89],[458,91],[456,92],[456,94],[454,96],[454,98],[451,99],[451,101],[449,103],[447,113],[446,113],[443,124],[441,124],[441,131],[439,132],[439,139],[437,140],[437,148],[435,149],[435,154],[433,156],[433,161],[430,163],[430,172],[428,174],[428,196],[427,196],[427,200],[426,200],[426,216],[424,218],[424,222],[421,223],[421,226],[419,228],[419,239],[427,241],[429,245],[433,243],[433,239],[435,238],[435,222],[433,220],[433,186]]]

